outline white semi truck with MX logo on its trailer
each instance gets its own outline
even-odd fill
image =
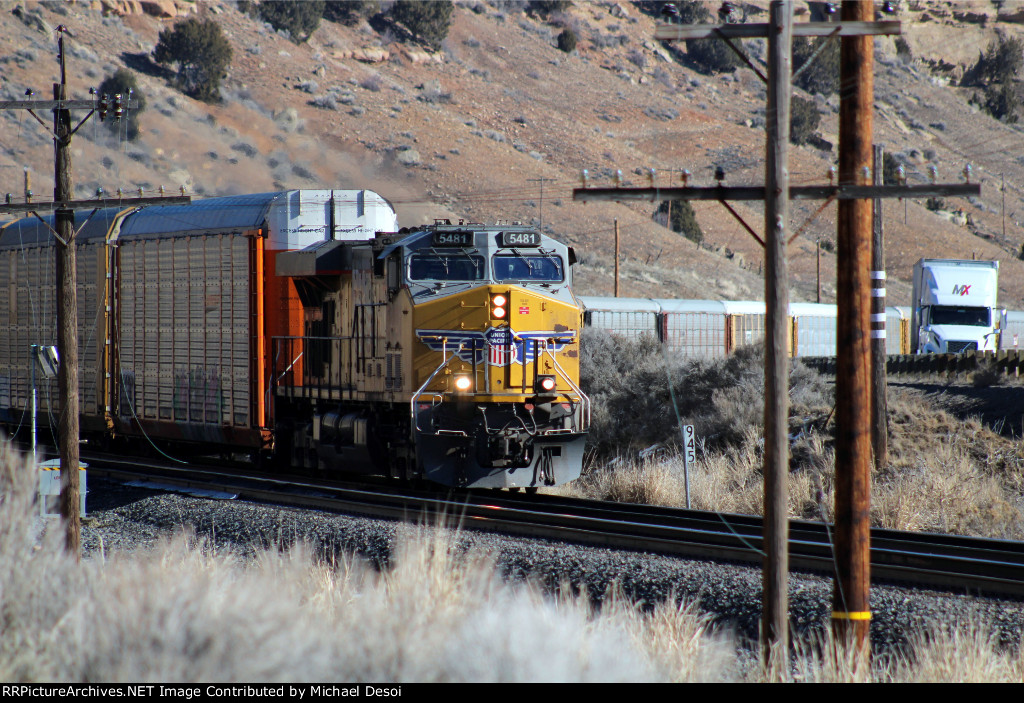
[[[996,308],[998,278],[998,261],[914,264],[910,349],[915,354],[997,350],[1007,314]]]

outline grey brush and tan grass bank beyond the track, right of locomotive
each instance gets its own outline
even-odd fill
[[[622,377],[618,386],[604,395],[595,394],[600,402],[632,410],[637,405],[624,398],[621,388],[633,388],[649,390],[648,398],[659,403],[640,412],[626,413],[632,415],[629,421],[632,425],[656,418],[656,423],[650,425],[656,427],[654,434],[644,435],[631,429],[625,435],[633,441],[628,444],[618,435],[599,427],[598,432],[603,433],[597,441],[599,449],[604,447],[607,452],[612,444],[609,440],[622,439],[618,450],[635,456],[637,438],[673,447],[678,435],[673,406],[668,399],[656,400],[659,396],[653,389],[658,372],[659,383],[665,386],[666,359],[655,356],[647,349],[651,345],[642,342],[598,338],[594,344],[593,352],[601,356],[609,350],[622,351],[615,345],[625,345],[631,352],[625,355],[631,363],[615,369]],[[589,360],[586,354],[584,358],[593,381],[612,376],[601,365],[607,361]],[[761,381],[760,366],[761,357],[746,350],[725,360],[679,364],[673,372],[677,396],[695,393],[702,399],[695,404],[692,398],[680,400],[682,421],[693,423],[698,437],[701,428],[715,433],[690,468],[692,508],[749,515],[763,513],[762,421],[755,416],[760,412],[761,399],[751,392]],[[642,380],[649,383],[641,383]],[[725,389],[715,390],[716,386]],[[803,365],[793,369],[791,396],[790,515],[831,521],[835,484],[831,398],[820,378]],[[687,414],[695,413],[697,408],[708,411],[702,421],[695,414]],[[595,415],[603,418],[610,412],[604,408]],[[979,421],[956,419],[920,395],[892,388],[889,420],[889,460],[871,477],[872,524],[901,530],[1024,538],[1024,447],[1019,442],[995,434]],[[623,502],[686,504],[682,460],[671,450],[663,451],[654,460],[605,459],[560,492]]]

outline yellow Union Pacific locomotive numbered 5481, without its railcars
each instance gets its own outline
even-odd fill
[[[278,257],[308,333],[271,340],[279,454],[450,486],[580,475],[590,406],[570,248],[442,221],[323,250]]]

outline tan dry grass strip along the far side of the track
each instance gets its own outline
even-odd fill
[[[941,411],[916,413],[939,431],[897,431],[890,464],[871,483],[873,525],[987,537],[1024,538],[1024,459],[1020,449],[976,423],[952,421]],[[938,420],[936,420],[938,419]],[[918,425],[927,427],[926,420]],[[944,434],[948,433],[948,434]],[[833,520],[835,453],[822,432],[791,445],[790,515]],[[690,468],[690,506],[721,513],[762,515],[763,444],[748,429],[733,448],[708,452]],[[618,462],[599,467],[559,492],[568,495],[683,507],[682,458]]]

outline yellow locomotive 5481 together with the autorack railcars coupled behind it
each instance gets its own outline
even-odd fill
[[[47,218],[0,227],[0,429],[57,416]],[[572,250],[518,225],[395,232],[369,190],[77,213],[81,427],[177,455],[527,487],[577,478]]]

